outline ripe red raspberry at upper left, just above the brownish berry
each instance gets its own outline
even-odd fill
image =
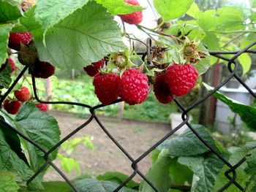
[[[31,33],[11,33],[9,37],[9,47],[14,50],[20,50],[20,43],[28,45],[33,39]]]

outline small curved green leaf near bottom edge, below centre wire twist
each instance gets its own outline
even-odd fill
[[[99,176],[97,176],[97,180],[110,180],[120,185],[121,183],[124,183],[124,181],[127,180],[128,177],[128,175],[121,172],[106,172],[105,174],[100,174]],[[130,180],[126,186],[127,188],[136,188],[138,187],[138,185],[140,184],[136,183],[133,180]]]

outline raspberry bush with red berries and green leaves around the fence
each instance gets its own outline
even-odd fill
[[[56,68],[84,69],[93,78],[94,93],[103,105],[117,99],[129,105],[140,104],[153,91],[157,100],[168,107],[174,99],[201,85],[200,75],[219,63],[209,51],[238,50],[255,41],[254,0],[246,12],[238,6],[203,12],[193,0],[153,0],[149,7],[158,16],[154,28],[144,26],[146,8],[140,7],[140,2],[38,0],[35,4],[31,0],[0,0],[0,173],[10,177],[10,188],[14,191],[43,190],[52,184],[43,183],[48,165],[26,183],[45,164],[45,156],[7,125],[37,141],[46,151],[60,141],[61,134],[58,122],[48,114],[46,103],[50,98],[44,98],[44,104],[38,103],[34,94],[37,90],[23,85],[24,81],[31,85],[30,76],[37,81],[54,75]],[[153,46],[129,34],[127,26],[150,37]],[[147,54],[143,59],[133,50],[132,41],[145,45]],[[252,59],[248,53],[239,56],[238,62],[243,74],[249,72]],[[23,69],[28,69],[28,73],[20,74],[25,72]],[[255,107],[231,101],[220,93],[215,96],[236,112],[247,127],[255,130],[252,125],[256,121]],[[256,144],[233,149],[231,154],[214,141],[207,128],[196,127],[230,161],[238,159],[240,153],[250,156],[238,176],[243,177],[241,184],[246,191],[255,191]],[[53,161],[57,156],[60,156],[58,149],[53,150],[48,160]],[[227,167],[189,131],[159,145],[152,160],[154,164],[147,177],[161,192],[173,191],[171,188],[182,191],[187,186],[195,192],[217,191],[228,182],[226,178],[222,180]],[[91,188],[107,185],[105,191],[114,191],[126,179],[121,173],[107,173],[97,179],[80,177],[73,184],[81,191],[88,185]],[[2,185],[0,182],[0,191]],[[8,191],[9,187],[4,190]],[[55,186],[55,190],[59,188]],[[146,182],[132,181],[122,190],[153,191]]]

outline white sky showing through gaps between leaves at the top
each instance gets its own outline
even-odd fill
[[[153,0],[138,0],[140,2],[140,6],[145,7],[146,9],[143,10],[143,22],[140,23],[142,26],[146,26],[148,28],[154,28],[157,26],[157,12],[154,14],[151,7],[148,4],[148,1],[153,4]],[[232,4],[246,4],[249,7],[249,0],[230,0]],[[118,23],[121,23],[121,19],[116,17]],[[126,31],[130,34],[135,34],[136,37],[139,39],[147,38],[147,35],[142,31],[138,30],[136,26],[126,24]]]

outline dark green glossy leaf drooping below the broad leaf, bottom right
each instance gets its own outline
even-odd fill
[[[224,166],[214,153],[208,153],[204,157],[180,157],[178,162],[188,166],[194,172],[192,192],[210,192],[214,187],[217,174]]]

